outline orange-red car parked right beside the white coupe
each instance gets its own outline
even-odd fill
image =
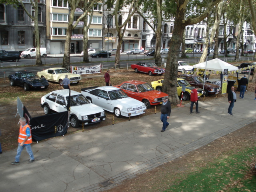
[[[125,81],[115,86],[121,88],[129,97],[143,102],[147,108],[151,105],[162,104],[163,97],[168,94],[154,90],[149,84],[142,81]]]

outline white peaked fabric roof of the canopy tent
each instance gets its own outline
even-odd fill
[[[228,69],[228,71],[238,70],[238,67],[231,65],[227,62],[224,62],[218,58],[207,61],[207,66],[206,66],[206,62],[202,62],[196,65],[193,65],[193,67],[198,69],[206,68],[206,70],[214,70],[214,71],[221,71],[221,72],[223,72],[224,69]]]

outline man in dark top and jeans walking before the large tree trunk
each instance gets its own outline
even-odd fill
[[[167,119],[170,118],[171,114],[171,104],[168,102],[168,96],[164,96],[163,98],[164,102],[162,103],[161,106],[161,121],[163,122],[163,128],[161,132],[164,132],[165,129],[168,127],[169,123],[167,122]]]

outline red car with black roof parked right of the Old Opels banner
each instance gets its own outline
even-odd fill
[[[131,68],[134,69],[136,73],[148,73],[150,76],[162,75],[165,72],[164,68],[156,66],[155,63],[139,62],[137,64],[132,64]]]

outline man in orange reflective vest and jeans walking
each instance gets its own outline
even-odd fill
[[[26,147],[26,150],[30,156],[30,160],[28,160],[28,163],[32,163],[35,160],[33,152],[31,150],[31,146],[30,146],[30,144],[32,143],[30,126],[26,123],[26,118],[24,117],[20,118],[19,123],[20,123],[20,134],[18,137],[18,149],[17,149],[17,155],[15,157],[15,161],[12,162],[13,165],[20,164],[20,154],[24,149],[24,147]]]

